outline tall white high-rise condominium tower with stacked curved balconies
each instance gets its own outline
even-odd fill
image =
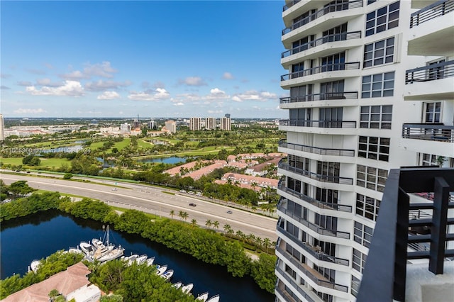
[[[285,2],[277,301],[355,301],[389,169],[453,167],[453,0],[435,2]]]

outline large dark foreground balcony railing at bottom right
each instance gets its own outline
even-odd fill
[[[408,301],[407,259],[428,258],[428,270],[443,274],[445,257],[454,257],[454,250],[448,245],[448,241],[454,240],[454,233],[448,228],[454,225],[454,218],[448,217],[454,208],[449,201],[452,191],[453,168],[391,169],[356,301]],[[433,192],[433,202],[411,203],[409,194],[418,192]],[[409,210],[420,208],[430,208],[432,218],[409,219]],[[430,234],[410,235],[409,227],[415,226],[430,229]],[[430,250],[409,251],[408,243],[414,242],[430,242]]]

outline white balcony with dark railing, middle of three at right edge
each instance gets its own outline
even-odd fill
[[[454,99],[452,77],[454,60],[409,69],[405,73],[404,99],[406,101]]]

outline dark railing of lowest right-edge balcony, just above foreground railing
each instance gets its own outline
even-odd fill
[[[454,125],[403,124],[402,138],[454,142]]]

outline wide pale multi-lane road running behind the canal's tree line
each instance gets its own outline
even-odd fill
[[[251,233],[262,239],[267,237],[272,241],[277,240],[276,219],[204,201],[196,196],[185,196],[170,189],[101,179],[89,179],[89,182],[50,179],[31,174],[1,173],[0,179],[7,185],[14,181],[26,180],[28,185],[35,189],[99,199],[111,206],[136,209],[167,218],[170,218],[172,210],[175,211],[174,218],[178,218],[179,211],[185,211],[189,214],[188,222],[196,219],[197,224],[203,227],[206,220],[218,221],[219,230],[223,230],[223,225],[229,224],[234,231],[241,230],[245,234]],[[196,206],[189,206],[189,203],[195,203]],[[227,211],[233,213],[228,214]]]

